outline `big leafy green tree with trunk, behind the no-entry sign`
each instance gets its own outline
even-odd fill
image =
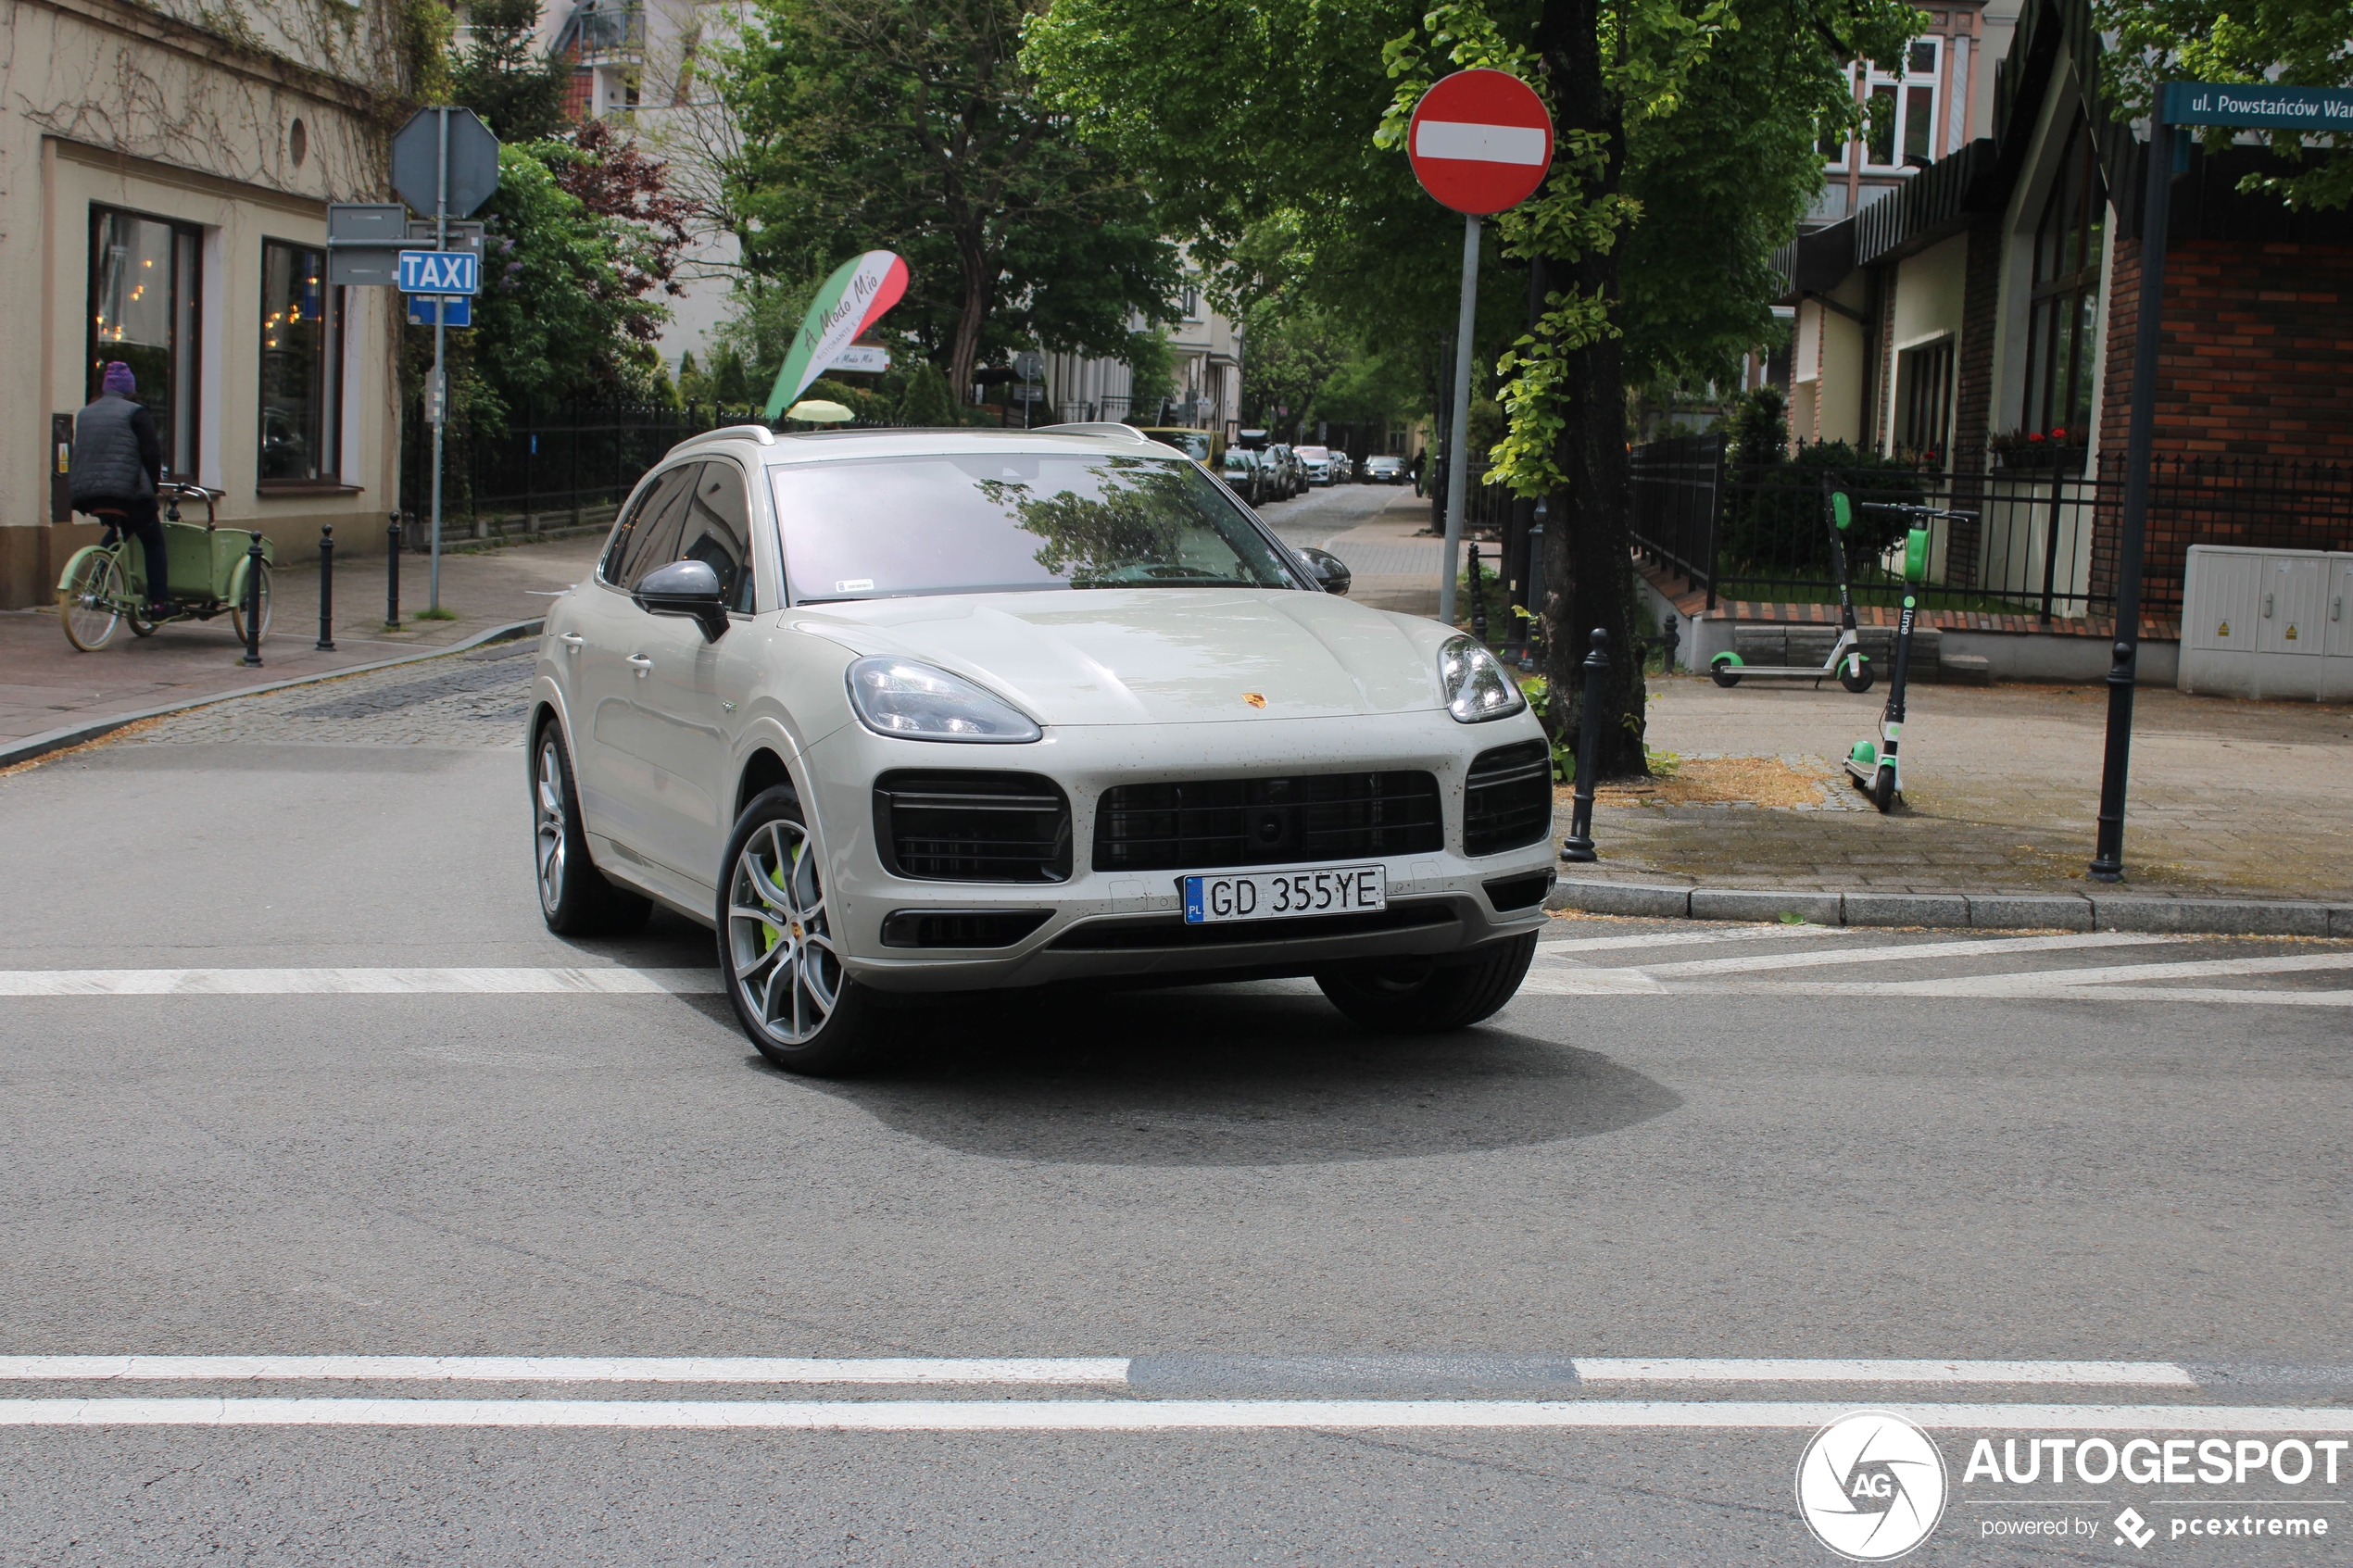
[[[1468,66],[1548,99],[1553,169],[1489,223],[1478,341],[1511,346],[1494,458],[1520,494],[1555,498],[1562,689],[1581,691],[1584,630],[1609,632],[1614,776],[1645,769],[1626,383],[1722,371],[1769,336],[1767,259],[1821,186],[1817,134],[1852,125],[1847,61],[1901,59],[1920,21],[1899,0],[1054,0],[1026,59],[1080,134],[1151,179],[1176,233],[1198,230],[1195,256],[1391,336],[1452,322],[1461,254],[1461,221],[1402,158],[1414,103]],[[1271,228],[1287,242],[1261,244]]]

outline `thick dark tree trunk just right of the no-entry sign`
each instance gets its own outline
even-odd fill
[[[1607,136],[1607,160],[1586,197],[1617,193],[1626,165],[1626,125],[1602,82],[1598,0],[1546,0],[1537,47],[1567,127]],[[1617,254],[1591,252],[1555,261],[1551,275],[1579,294],[1619,306]],[[1642,665],[1626,614],[1633,571],[1626,534],[1626,355],[1614,336],[1579,350],[1567,364],[1567,428],[1558,461],[1567,487],[1546,508],[1544,672],[1562,701],[1553,724],[1567,738],[1584,724],[1586,651],[1593,628],[1607,635],[1609,675],[1600,691],[1600,762],[1595,778],[1649,773],[1642,752]]]

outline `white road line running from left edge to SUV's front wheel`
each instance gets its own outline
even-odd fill
[[[0,969],[0,997],[718,994],[715,969]]]

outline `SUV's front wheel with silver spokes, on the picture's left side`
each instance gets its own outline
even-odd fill
[[[720,971],[760,1056],[786,1072],[842,1077],[873,1058],[873,994],[842,966],[821,860],[791,790],[744,806],[720,858]]]

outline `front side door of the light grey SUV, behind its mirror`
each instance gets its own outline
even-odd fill
[[[638,679],[647,755],[656,764],[649,802],[652,853],[718,889],[720,851],[734,827],[729,788],[734,736],[753,677],[746,621],[758,609],[751,567],[751,494],[729,458],[704,463],[682,505],[673,559],[704,562],[720,578],[729,635],[711,642],[680,616],[654,623],[640,646],[652,668]]]

